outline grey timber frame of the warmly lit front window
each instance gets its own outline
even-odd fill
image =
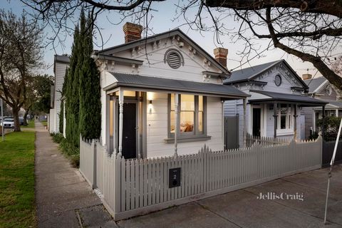
[[[178,94],[178,110],[177,110],[177,123],[175,125],[180,125],[180,112],[181,112],[181,95]],[[192,95],[192,94],[191,94]],[[207,96],[202,95],[203,97],[203,120],[202,132],[199,131],[199,95],[195,96],[195,117],[194,117],[194,130],[192,132],[181,133],[179,132],[177,135],[177,139],[198,139],[198,138],[207,138]],[[175,133],[171,133],[171,93],[167,94],[167,141],[172,141],[175,139]],[[173,104],[174,105],[174,104]],[[173,109],[174,110],[174,109]]]

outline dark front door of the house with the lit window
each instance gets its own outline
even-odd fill
[[[136,108],[135,103],[123,104],[123,157],[125,159],[137,157]]]

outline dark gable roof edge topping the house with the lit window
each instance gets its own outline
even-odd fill
[[[167,37],[171,37],[171,36],[180,36],[180,38],[182,38],[184,41],[186,41],[187,43],[189,43],[192,47],[196,48],[196,51],[198,53],[201,53],[202,56],[204,56],[205,58],[209,59],[209,61],[211,63],[214,64],[214,66],[216,66],[217,68],[219,68],[223,73],[226,73],[227,75],[230,75],[230,71],[227,70],[227,68],[225,68],[224,66],[221,65],[221,63],[219,63],[218,61],[216,61],[216,59],[209,55],[209,53],[207,53],[207,51],[204,51],[204,49],[199,46],[195,41],[192,41],[192,39],[187,36],[185,33],[183,33],[180,28],[176,28],[176,29],[173,29],[173,30],[170,30],[170,31],[166,31],[164,33],[159,33],[159,34],[156,34],[154,36],[148,36],[146,38],[140,38],[136,41],[130,41],[128,43],[123,43],[123,44],[120,44],[118,46],[113,46],[113,47],[110,47],[110,48],[105,48],[101,51],[98,51],[98,53],[101,53],[101,54],[105,54],[105,55],[108,55],[108,54],[111,54],[111,53],[118,53],[120,51],[125,51],[125,50],[128,50],[130,48],[134,48],[136,46],[140,46],[140,45],[144,45],[145,46],[145,43],[149,43],[149,42],[153,42],[153,41],[158,41],[162,38],[167,38]]]

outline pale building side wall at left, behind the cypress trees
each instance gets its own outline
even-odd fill
[[[63,135],[65,135],[65,129],[62,131],[59,129],[59,113],[61,112],[61,92],[63,88],[64,76],[66,75],[66,68],[69,66],[69,63],[70,60],[68,56],[55,55],[53,61],[53,73],[55,78],[53,81],[53,86],[51,86],[51,109],[48,115],[48,130],[50,133],[63,132]]]

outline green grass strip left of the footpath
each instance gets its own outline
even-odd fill
[[[36,227],[34,132],[0,140],[0,227]]]

